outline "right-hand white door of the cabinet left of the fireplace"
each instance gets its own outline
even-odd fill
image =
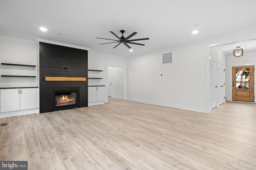
[[[20,89],[20,110],[36,109],[36,88]]]

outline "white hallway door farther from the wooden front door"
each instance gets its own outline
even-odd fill
[[[216,61],[212,61],[212,68],[211,68],[211,72],[212,72],[212,78],[211,78],[211,105],[212,105],[212,109],[214,107],[217,107],[217,63]]]

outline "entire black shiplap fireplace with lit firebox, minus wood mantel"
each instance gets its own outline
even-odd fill
[[[87,50],[40,42],[39,76],[40,113],[88,106]],[[46,81],[45,77],[83,77],[86,81]]]

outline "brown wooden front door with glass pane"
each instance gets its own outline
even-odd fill
[[[254,65],[232,67],[232,100],[254,102]]]

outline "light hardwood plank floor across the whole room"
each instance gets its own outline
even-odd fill
[[[4,122],[0,160],[28,160],[29,170],[256,169],[256,104],[208,114],[109,98]]]

